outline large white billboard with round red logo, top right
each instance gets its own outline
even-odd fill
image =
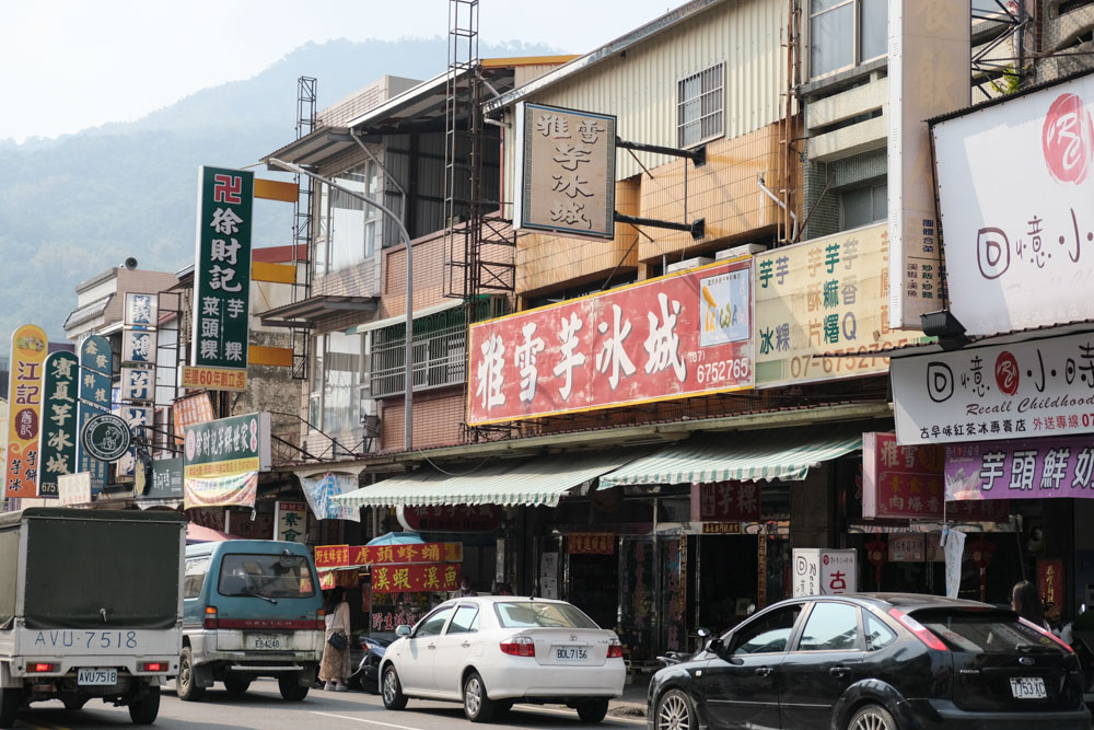
[[[932,127],[950,310],[970,335],[1094,318],[1092,129],[1094,74]]]

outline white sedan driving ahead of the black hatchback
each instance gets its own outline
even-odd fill
[[[396,633],[380,667],[387,709],[408,697],[451,699],[472,722],[486,722],[515,702],[558,703],[600,722],[626,681],[615,631],[565,601],[453,599]]]

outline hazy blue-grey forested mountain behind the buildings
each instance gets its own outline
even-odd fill
[[[444,71],[446,53],[440,37],[310,43],[251,79],[205,89],[137,121],[22,144],[0,140],[0,343],[24,323],[62,340],[75,286],[127,256],[143,269],[191,264],[198,166],[252,165],[292,141],[299,77],[317,79],[323,108],[385,73],[432,78]],[[545,53],[552,50],[480,47],[482,57]],[[289,244],[291,213],[287,204],[256,201],[255,245]]]

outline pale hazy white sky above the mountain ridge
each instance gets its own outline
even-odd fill
[[[683,2],[481,0],[479,38],[583,54]],[[443,36],[447,25],[449,0],[3,1],[0,139],[130,121],[309,40]]]

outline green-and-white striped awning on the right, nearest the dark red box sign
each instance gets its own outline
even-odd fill
[[[620,484],[800,482],[810,467],[862,448],[862,431],[838,425],[712,433],[673,444],[601,477]]]

